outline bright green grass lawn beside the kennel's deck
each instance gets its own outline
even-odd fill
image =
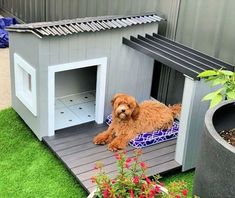
[[[83,198],[86,193],[50,150],[33,135],[11,108],[0,111],[0,197]],[[163,178],[185,180],[194,172]]]

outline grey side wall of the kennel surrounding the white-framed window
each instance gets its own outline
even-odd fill
[[[26,124],[35,132],[40,138],[40,106],[43,105],[37,100],[37,116],[34,116],[25,105],[15,95],[15,75],[14,75],[14,60],[13,55],[17,53],[25,61],[27,61],[32,67],[38,68],[38,56],[39,53],[39,39],[32,34],[15,34],[10,33],[10,64],[11,64],[11,93],[12,93],[12,107],[15,111],[21,115],[21,118]],[[25,41],[27,41],[27,46]],[[30,49],[30,50],[29,50]],[[37,97],[40,98],[41,92],[39,92],[39,72],[36,71],[37,81]]]

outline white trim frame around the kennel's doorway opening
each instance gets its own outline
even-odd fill
[[[54,127],[55,73],[61,71],[91,67],[91,66],[97,66],[95,121],[98,124],[103,123],[107,57],[73,62],[68,64],[52,65],[48,67],[48,136],[53,136],[55,134],[54,130],[55,129]]]

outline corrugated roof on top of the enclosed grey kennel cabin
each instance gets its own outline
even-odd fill
[[[54,22],[18,24],[8,27],[8,31],[31,32],[38,37],[62,36],[82,32],[97,32],[101,30],[125,28],[132,25],[154,23],[164,20],[155,13],[131,16],[99,16],[86,17]]]

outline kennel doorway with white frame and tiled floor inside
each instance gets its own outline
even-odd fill
[[[48,71],[49,136],[89,121],[103,123],[107,58],[53,65]]]

